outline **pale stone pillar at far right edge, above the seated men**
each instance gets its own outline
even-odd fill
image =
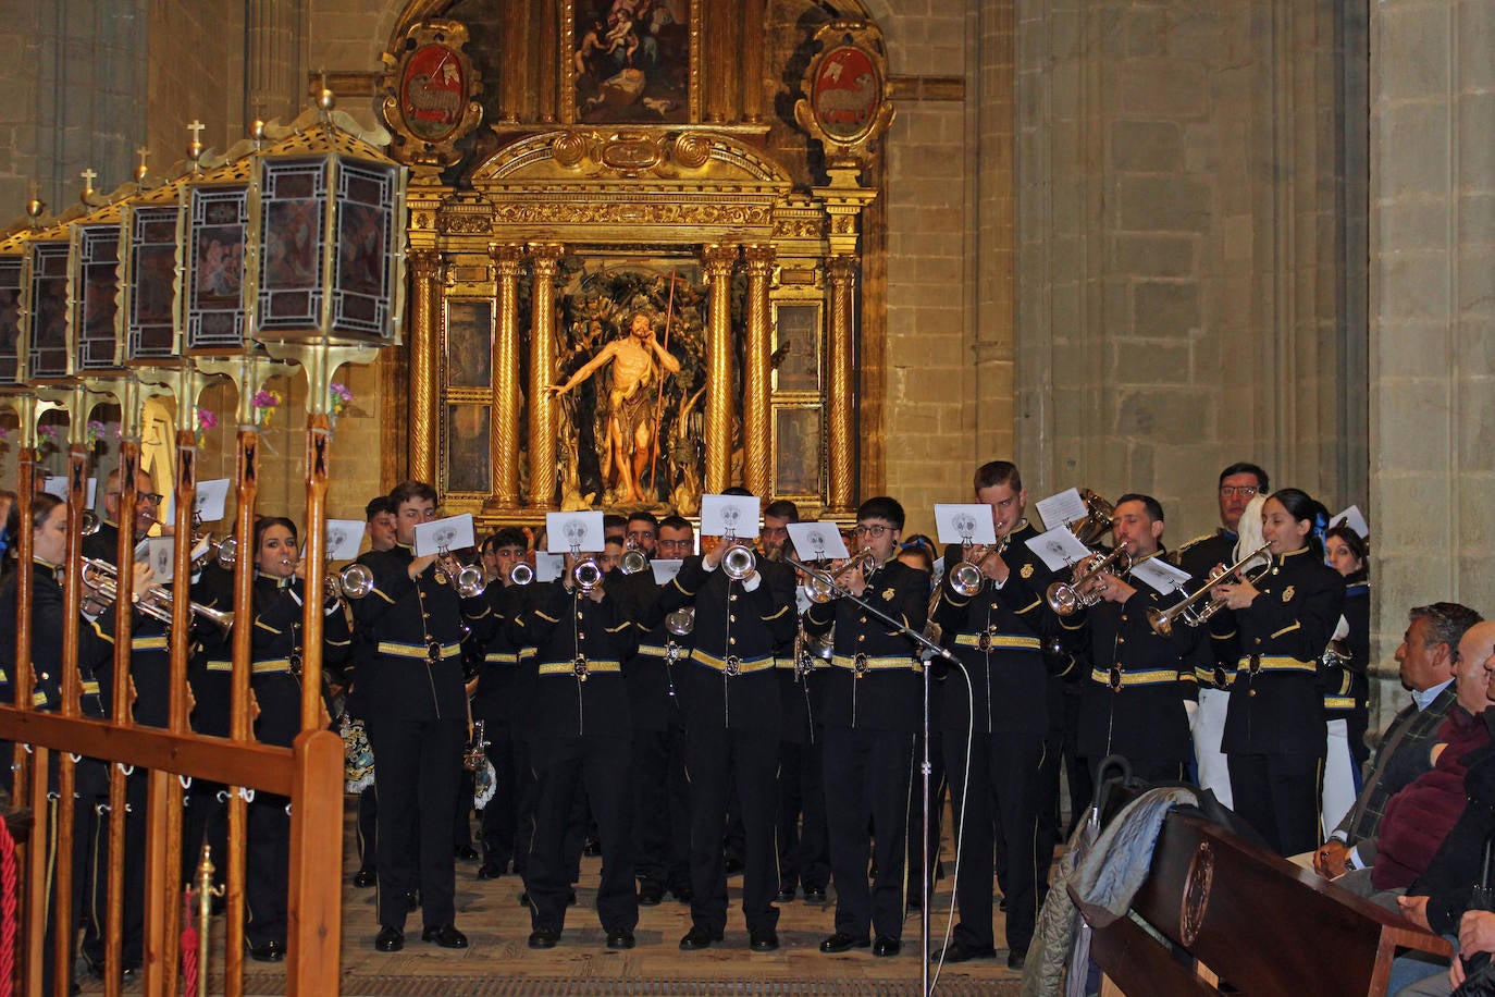
[[[1371,574],[1381,714],[1407,610],[1495,610],[1495,0],[1371,4]],[[1375,726],[1372,720],[1372,728]]]

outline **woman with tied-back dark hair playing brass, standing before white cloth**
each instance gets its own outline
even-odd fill
[[[1344,581],[1314,535],[1323,507],[1298,489],[1262,507],[1271,567],[1215,586],[1212,629],[1239,647],[1221,747],[1235,810],[1281,855],[1317,846],[1325,750],[1319,656],[1344,605]],[[1224,617],[1224,619],[1221,619]]]

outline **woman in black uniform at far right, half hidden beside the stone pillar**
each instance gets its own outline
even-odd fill
[[[1365,540],[1344,522],[1325,534],[1325,559],[1344,578],[1344,613],[1323,656],[1323,709],[1329,743],[1323,767],[1323,834],[1328,839],[1360,792],[1360,771],[1369,758],[1371,586]]]

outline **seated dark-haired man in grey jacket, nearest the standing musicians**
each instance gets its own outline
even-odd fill
[[[1314,852],[1314,870],[1329,879],[1375,862],[1386,801],[1432,767],[1429,747],[1458,698],[1453,679],[1459,643],[1482,617],[1458,602],[1434,602],[1414,607],[1408,620],[1396,664],[1411,703],[1386,728],[1354,806]]]

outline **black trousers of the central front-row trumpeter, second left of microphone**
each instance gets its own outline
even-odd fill
[[[691,921],[710,934],[727,930],[727,861],[722,837],[736,788],[745,837],[743,915],[749,931],[773,931],[779,909],[779,855],[773,842],[779,768],[777,729],[686,726],[691,779]]]

